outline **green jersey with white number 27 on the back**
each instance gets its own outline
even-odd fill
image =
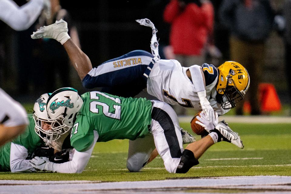
[[[71,145],[82,151],[94,140],[142,138],[149,133],[152,102],[142,98],[123,98],[102,92],[83,94],[84,101],[71,133]]]

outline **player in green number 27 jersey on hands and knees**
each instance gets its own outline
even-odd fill
[[[189,144],[184,150],[179,121],[170,105],[156,100],[123,98],[97,91],[80,96],[72,88],[58,89],[49,97],[47,111],[55,133],[62,135],[72,129],[70,138],[75,153],[72,161],[62,164],[50,162],[45,157],[35,157],[30,162],[39,170],[81,173],[89,162],[96,142],[129,139],[129,171],[140,171],[156,147],[168,172],[186,173],[192,166],[199,164],[199,157],[211,145],[235,139],[235,135],[228,130],[215,129],[212,122],[207,123],[204,115],[200,121],[207,125],[205,129],[210,129],[209,135]]]

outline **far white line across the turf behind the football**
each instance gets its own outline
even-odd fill
[[[193,115],[194,116],[194,115]],[[193,116],[178,116],[179,122],[190,122]],[[291,123],[291,117],[287,116],[219,116],[219,121],[227,123]]]

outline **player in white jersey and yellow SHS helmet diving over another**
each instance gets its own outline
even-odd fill
[[[59,41],[85,88],[102,87],[102,92],[124,97],[135,96],[147,88],[147,92],[160,101],[189,107],[196,112],[203,110],[212,123],[214,112],[223,115],[244,98],[249,88],[249,74],[243,65],[228,61],[218,68],[206,63],[202,67],[186,68],[177,60],[159,59],[156,29],[148,19],[138,22],[153,28],[153,55],[135,50],[94,68],[88,56],[70,39],[67,23],[62,19],[41,27],[31,37]]]

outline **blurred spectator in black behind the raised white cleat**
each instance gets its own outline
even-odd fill
[[[45,15],[42,14],[38,19],[35,29],[44,25],[51,25],[55,23],[56,20],[63,19],[68,22],[70,37],[80,47],[77,28],[73,24],[68,11],[62,9],[59,0],[51,0],[51,7],[51,17],[46,18]],[[35,45],[33,54],[38,64],[36,67],[37,72],[47,72],[35,75],[38,76],[36,80],[38,80],[37,84],[39,89],[43,90],[42,93],[71,85],[69,77],[70,60],[65,49],[59,42],[49,38],[39,39]],[[59,85],[57,81],[60,81],[61,84]]]

